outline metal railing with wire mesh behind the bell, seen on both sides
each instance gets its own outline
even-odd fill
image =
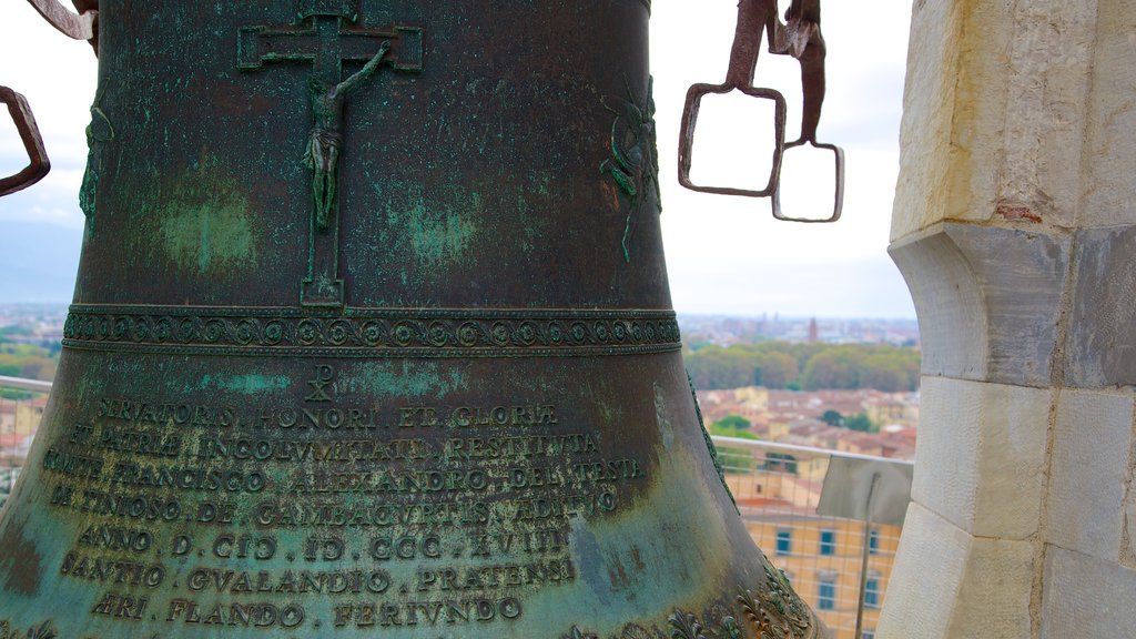
[[[0,376],[0,506],[26,462],[50,390],[50,382]],[[911,464],[768,441],[712,439],[726,483],[758,547],[786,573],[835,639],[871,639],[901,526],[866,526],[863,517],[819,514],[818,507],[822,497],[846,488],[832,482],[826,487],[835,464],[883,464],[908,473]]]

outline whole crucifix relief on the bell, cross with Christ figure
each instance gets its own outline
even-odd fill
[[[237,67],[259,70],[268,63],[308,63],[312,125],[303,153],[311,169],[311,232],[308,276],[300,284],[302,307],[343,306],[339,264],[339,189],[336,173],[348,128],[343,106],[379,66],[416,73],[423,68],[419,27],[366,27],[356,24],[356,2],[307,0],[299,22],[284,26],[244,26],[237,40]],[[344,77],[344,61],[364,67]]]

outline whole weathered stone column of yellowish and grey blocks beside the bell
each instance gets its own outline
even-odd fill
[[[901,148],[924,417],[877,637],[1136,637],[1136,0],[917,0]]]

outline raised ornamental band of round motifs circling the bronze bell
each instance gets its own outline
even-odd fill
[[[66,348],[312,357],[580,357],[682,348],[673,310],[72,306]]]

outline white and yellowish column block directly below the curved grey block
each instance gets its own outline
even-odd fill
[[[1049,390],[925,376],[912,499],[975,536],[1036,534],[1051,397]]]

